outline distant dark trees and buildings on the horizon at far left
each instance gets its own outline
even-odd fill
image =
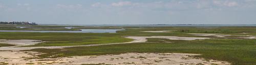
[[[37,25],[28,21],[0,21],[0,25]]]

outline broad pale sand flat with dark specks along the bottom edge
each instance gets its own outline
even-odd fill
[[[1,54],[0,54],[1,55]],[[16,54],[18,55],[18,54]],[[1,58],[1,62],[9,64],[157,64],[157,65],[180,65],[180,64],[230,64],[226,61],[209,60],[195,58],[200,54],[187,53],[124,53],[119,55],[99,55],[99,56],[72,56],[62,58],[28,59],[25,58]],[[26,56],[26,55],[25,55]],[[26,56],[30,57],[30,56]],[[40,60],[40,61],[38,61]]]

